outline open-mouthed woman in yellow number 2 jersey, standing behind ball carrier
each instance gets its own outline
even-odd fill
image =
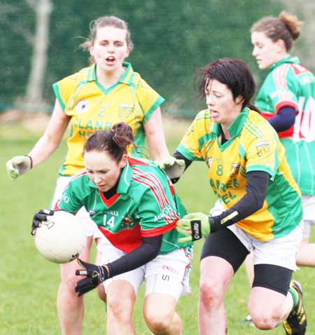
[[[68,152],[59,169],[52,208],[71,176],[83,169],[83,147],[95,130],[110,130],[124,121],[132,127],[137,146],[142,146],[146,137],[154,160],[169,156],[160,113],[164,99],[133,71],[130,63],[124,62],[133,47],[127,23],[114,16],[92,21],[90,37],[83,47],[89,50],[93,64],[53,85],[55,107],[43,137],[27,156],[15,156],[6,164],[13,179],[28,172],[57,149],[70,123]],[[77,215],[87,228],[87,244],[80,257],[88,261],[92,238],[94,233],[94,238],[99,237],[98,230],[84,209]],[[74,292],[78,281],[75,270],[73,263],[61,266],[57,310],[63,335],[80,334],[83,322],[83,296]]]

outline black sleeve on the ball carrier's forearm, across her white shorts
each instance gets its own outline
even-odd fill
[[[155,259],[160,252],[162,238],[163,235],[143,238],[140,247],[116,259],[116,261],[106,264],[109,267],[109,276],[113,277],[114,275],[134,270]]]

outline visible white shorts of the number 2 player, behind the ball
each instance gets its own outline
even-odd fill
[[[64,191],[70,180],[71,177],[59,177],[57,179],[55,193],[50,204],[50,208],[52,210],[55,207],[57,200],[61,198],[62,192]],[[85,210],[85,207],[82,207],[80,210],[78,210],[78,212],[76,213],[76,217],[78,217],[80,223],[83,224],[83,226],[85,227],[87,236],[93,236],[93,238],[100,238],[103,236],[101,231],[99,231],[97,224],[95,224],[95,222],[90,219],[90,214]]]

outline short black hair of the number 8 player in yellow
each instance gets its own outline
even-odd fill
[[[197,86],[201,97],[206,95],[207,86],[212,79],[216,79],[228,86],[234,100],[239,95],[243,97],[242,108],[247,106],[255,111],[259,111],[257,107],[250,103],[255,93],[255,81],[250,69],[248,69],[248,66],[244,62],[233,58],[221,58],[205,67],[197,69],[195,86]]]

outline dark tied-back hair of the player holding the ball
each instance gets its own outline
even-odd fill
[[[117,162],[127,153],[127,146],[134,144],[132,128],[125,122],[113,125],[111,130],[98,130],[87,139],[83,154],[89,151],[106,151]]]

